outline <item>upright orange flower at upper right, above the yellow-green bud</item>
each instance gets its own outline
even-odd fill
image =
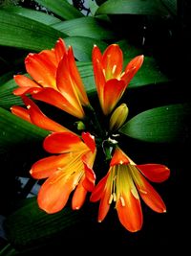
[[[127,85],[138,72],[143,56],[133,58],[122,72],[123,54],[117,44],[109,45],[101,54],[95,45],[93,66],[96,90],[103,113],[108,115],[117,105]]]

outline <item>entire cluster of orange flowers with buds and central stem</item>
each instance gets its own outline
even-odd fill
[[[35,162],[30,171],[33,178],[46,179],[37,196],[41,209],[50,214],[60,211],[72,192],[72,208],[79,209],[87,193],[91,193],[90,201],[100,200],[98,221],[103,221],[111,204],[115,204],[121,224],[136,232],[142,225],[141,200],[156,212],[166,211],[148,180],[162,182],[170,175],[169,169],[161,164],[136,164],[112,136],[126,121],[128,107],[118,103],[141,67],[143,56],[133,58],[123,69],[123,53],[117,44],[111,44],[103,54],[95,45],[92,59],[97,96],[102,115],[108,120],[107,128],[100,125],[96,107],[88,99],[73,48],[67,48],[62,38],[52,50],[27,56],[28,75],[14,76],[18,87],[13,91],[26,107],[13,105],[11,112],[50,131],[43,141],[43,148],[50,155]],[[74,116],[77,132],[45,115],[37,101]],[[86,124],[90,120],[93,130]],[[97,151],[104,152],[103,160],[107,160],[109,169],[108,173],[101,170],[99,180],[94,170]]]

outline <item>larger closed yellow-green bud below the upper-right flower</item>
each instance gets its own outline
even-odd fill
[[[126,104],[119,105],[110,118],[110,130],[120,128],[125,123],[128,113],[129,108]]]

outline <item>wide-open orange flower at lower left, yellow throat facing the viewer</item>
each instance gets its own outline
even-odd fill
[[[32,165],[33,178],[47,178],[37,196],[39,207],[47,213],[60,211],[74,189],[72,208],[79,209],[94,189],[95,139],[88,132],[82,133],[82,139],[71,132],[54,132],[44,140],[44,149],[54,155]]]

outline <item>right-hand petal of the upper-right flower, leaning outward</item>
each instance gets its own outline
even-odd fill
[[[138,72],[138,69],[141,67],[143,63],[144,56],[137,56],[136,58],[133,58],[126,66],[125,73],[121,77],[121,80],[125,81],[126,85],[129,84],[129,82],[133,79],[133,77]]]

